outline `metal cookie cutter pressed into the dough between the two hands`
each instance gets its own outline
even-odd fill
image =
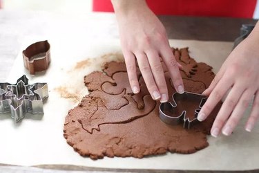
[[[183,127],[190,129],[195,122],[198,122],[198,113],[207,97],[190,92],[173,93],[172,97],[172,103],[160,104],[160,119],[170,125],[178,125],[183,122]]]

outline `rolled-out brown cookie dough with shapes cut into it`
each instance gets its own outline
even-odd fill
[[[188,48],[173,48],[172,51],[183,66],[181,75],[185,90],[202,93],[207,89],[215,76],[211,66],[195,62]],[[163,67],[169,95],[172,95],[175,89],[164,64]],[[142,158],[166,152],[191,154],[209,145],[207,134],[220,104],[207,120],[191,129],[166,125],[159,118],[160,102],[152,100],[139,69],[137,76],[141,88],[137,95],[131,91],[123,62],[108,62],[102,72],[85,76],[85,84],[91,92],[68,112],[64,125],[64,137],[76,152],[92,159],[104,156]]]

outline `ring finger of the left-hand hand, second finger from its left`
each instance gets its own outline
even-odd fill
[[[149,93],[151,93],[153,100],[159,100],[161,95],[157,89],[157,85],[155,84],[151,67],[149,66],[146,55],[144,53],[137,53],[135,56],[137,57],[137,62]]]

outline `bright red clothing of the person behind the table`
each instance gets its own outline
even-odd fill
[[[146,0],[146,2],[156,15],[252,18],[256,8],[256,0]],[[93,11],[113,12],[111,0],[93,0]]]

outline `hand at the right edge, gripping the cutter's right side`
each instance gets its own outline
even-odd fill
[[[229,91],[211,128],[211,135],[214,137],[217,137],[221,130],[226,136],[232,133],[254,95],[252,111],[245,129],[251,131],[258,119],[259,37],[258,33],[253,33],[232,51],[209,88],[203,93],[209,95],[209,98],[198,115],[200,121],[207,118]]]

